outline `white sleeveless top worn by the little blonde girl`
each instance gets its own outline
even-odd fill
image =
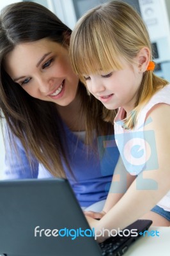
[[[154,132],[144,132],[144,125],[151,122],[151,120],[145,122],[146,115],[148,111],[158,103],[166,103],[170,105],[170,84],[151,97],[150,101],[141,110],[134,129],[129,130],[123,128],[123,116],[125,116],[125,110],[123,108],[119,109],[118,114],[114,119],[116,144],[120,150],[120,155],[125,164],[125,168],[131,175],[138,175],[143,170],[155,170],[158,168],[157,147],[155,144]],[[146,159],[146,147],[150,150],[148,159]],[[157,184],[154,180],[150,180],[148,186],[148,189],[157,189]],[[166,211],[170,211],[170,191],[157,205]]]

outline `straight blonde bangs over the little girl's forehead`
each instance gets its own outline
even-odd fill
[[[78,24],[79,25],[79,24]],[[122,68],[119,49],[112,44],[111,35],[100,33],[97,22],[75,29],[70,41],[70,58],[74,72],[84,83],[84,75],[100,74]],[[102,29],[101,29],[102,30]]]

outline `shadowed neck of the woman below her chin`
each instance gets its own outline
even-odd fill
[[[57,106],[61,119],[71,131],[85,131],[85,117],[81,111],[81,99],[76,95],[68,106]]]

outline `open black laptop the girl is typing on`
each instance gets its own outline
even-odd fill
[[[125,230],[135,228],[135,236],[124,232],[98,244],[68,180],[0,181],[0,255],[119,256],[150,225],[135,221]]]

